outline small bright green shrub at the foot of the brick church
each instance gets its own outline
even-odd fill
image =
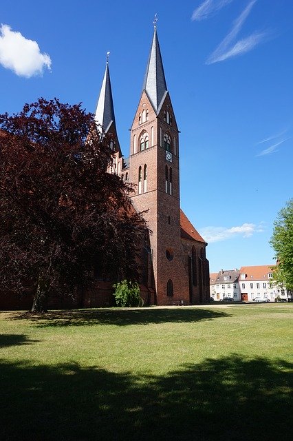
[[[115,288],[113,296],[117,306],[138,307],[143,305],[138,283],[122,280],[122,282],[115,283],[113,287]]]

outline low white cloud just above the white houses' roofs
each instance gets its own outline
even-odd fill
[[[228,240],[241,236],[248,238],[254,233],[261,233],[264,229],[264,223],[255,225],[254,223],[243,223],[237,227],[205,227],[200,230],[200,234],[208,243],[220,242],[221,240]]]

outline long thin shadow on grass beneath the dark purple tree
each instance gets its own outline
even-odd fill
[[[28,318],[37,323],[38,327],[64,327],[86,325],[149,325],[164,322],[198,322],[228,317],[226,312],[203,308],[174,309],[75,309],[67,311],[50,311],[47,314],[30,314],[15,312],[9,320]]]

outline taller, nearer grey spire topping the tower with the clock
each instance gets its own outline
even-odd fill
[[[166,96],[167,86],[159,40],[155,26],[156,21],[157,18],[155,17],[155,20],[153,22],[153,42],[151,44],[151,52],[149,54],[149,62],[146,66],[146,73],[144,75],[144,84],[142,90],[146,91],[146,94],[149,96],[149,99],[153,104],[155,112],[158,112],[158,110],[160,109],[160,104],[162,103],[162,99],[164,98],[164,96]]]

